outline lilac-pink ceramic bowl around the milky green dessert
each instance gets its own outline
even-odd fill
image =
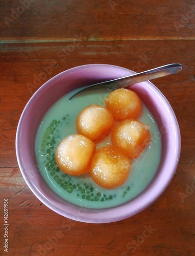
[[[16,134],[16,155],[19,168],[35,196],[58,214],[87,223],[123,220],[151,205],[172,180],[180,156],[180,130],[172,107],[163,94],[149,81],[137,83],[131,89],[137,92],[158,123],[162,137],[162,154],[155,177],[141,194],[117,207],[82,208],[56,195],[43,180],[38,170],[35,157],[35,138],[40,121],[50,106],[61,96],[76,88],[133,73],[125,68],[104,64],[84,65],[69,69],[45,82],[23,110]]]

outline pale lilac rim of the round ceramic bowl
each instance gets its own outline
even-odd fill
[[[169,174],[167,175],[167,177],[165,177],[165,182],[163,183],[163,185],[161,184],[159,187],[159,182],[157,182],[156,186],[150,188],[150,189],[145,189],[144,190],[144,194],[143,192],[138,195],[137,197],[135,197],[134,199],[132,199],[131,201],[116,206],[116,207],[112,207],[112,208],[105,208],[105,209],[89,209],[89,208],[84,208],[81,206],[76,206],[73,204],[66,204],[66,211],[64,212],[64,210],[60,209],[59,207],[56,206],[56,202],[51,202],[50,200],[48,200],[41,192],[40,190],[37,189],[36,186],[32,185],[32,181],[29,181],[25,169],[26,166],[23,163],[23,159],[22,156],[20,155],[20,139],[19,139],[19,133],[21,132],[21,127],[22,127],[22,122],[23,120],[25,120],[26,115],[28,114],[28,110],[30,107],[30,104],[33,100],[36,100],[36,97],[39,96],[39,94],[45,90],[45,88],[47,88],[48,86],[51,86],[51,84],[56,81],[57,79],[59,79],[60,77],[63,77],[66,74],[69,74],[71,72],[80,72],[82,70],[88,71],[90,72],[91,70],[95,69],[95,68],[107,68],[108,70],[114,70],[117,69],[119,72],[121,71],[127,71],[130,72],[131,74],[135,73],[129,69],[123,68],[123,67],[119,67],[119,66],[115,66],[115,65],[108,65],[108,64],[88,64],[88,65],[82,65],[82,66],[78,66],[75,68],[71,68],[68,70],[65,70],[59,74],[57,74],[56,76],[52,77],[51,79],[49,79],[48,81],[46,81],[34,94],[33,96],[30,98],[30,100],[28,101],[28,103],[26,104],[25,108],[22,111],[22,114],[20,116],[19,122],[18,122],[18,126],[17,126],[17,131],[16,131],[16,157],[17,157],[17,161],[18,161],[18,166],[20,169],[20,172],[23,176],[23,178],[25,179],[27,185],[29,186],[29,188],[31,189],[31,191],[33,192],[33,194],[44,204],[46,205],[48,208],[54,210],[55,212],[57,212],[58,214],[67,217],[69,219],[72,220],[77,220],[80,222],[86,222],[86,223],[109,223],[109,222],[115,222],[115,221],[119,221],[119,220],[123,220],[129,217],[134,216],[135,214],[138,214],[138,212],[144,210],[145,208],[147,208],[149,205],[151,205],[157,198],[160,197],[160,195],[163,193],[163,191],[166,189],[166,187],[168,186],[168,184],[170,183],[170,181],[172,180],[178,162],[179,162],[179,157],[180,157],[180,151],[181,151],[181,135],[180,135],[180,129],[179,129],[179,124],[177,121],[177,118],[175,116],[175,113],[172,109],[172,106],[170,106],[168,100],[166,99],[166,97],[160,92],[160,90],[158,88],[156,88],[154,86],[154,84],[150,81],[145,81],[139,84],[144,84],[145,86],[147,86],[147,88],[150,88],[150,90],[153,90],[155,92],[156,95],[158,95],[158,97],[161,99],[162,103],[166,106],[167,109],[167,113],[169,113],[169,115],[172,117],[173,120],[173,135],[175,135],[175,148],[173,148],[173,155],[172,155],[172,166],[169,166],[170,170],[169,170]],[[113,74],[112,74],[113,75]],[[113,78],[115,79],[115,78]],[[156,192],[156,188],[158,187],[158,191]],[[153,193],[154,192],[154,193]],[[143,194],[143,195],[142,195]],[[150,194],[150,197],[149,197]],[[140,196],[142,196],[142,200],[140,201]],[[64,201],[64,200],[62,200]],[[138,202],[139,201],[139,202]],[[131,209],[131,205],[132,202],[134,203],[133,205],[135,206],[133,209]],[[141,203],[140,203],[141,202]],[[70,210],[71,209],[71,210]],[[75,212],[75,214],[69,214],[69,211],[73,211]]]

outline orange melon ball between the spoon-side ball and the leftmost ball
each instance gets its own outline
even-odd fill
[[[114,125],[112,113],[104,106],[89,105],[84,108],[76,120],[77,132],[94,143],[104,139]]]

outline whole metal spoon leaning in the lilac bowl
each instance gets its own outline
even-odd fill
[[[155,69],[143,71],[141,73],[133,74],[130,76],[125,76],[121,78],[117,78],[114,80],[109,80],[105,82],[95,83],[91,86],[87,86],[85,88],[81,88],[80,91],[76,92],[72,95],[69,100],[71,100],[75,95],[82,91],[86,91],[89,89],[99,89],[99,88],[111,88],[113,90],[118,88],[126,88],[132,86],[135,83],[152,80],[155,78],[159,78],[162,76],[172,75],[178,73],[182,70],[182,65],[179,63],[172,63],[165,66],[161,66]]]

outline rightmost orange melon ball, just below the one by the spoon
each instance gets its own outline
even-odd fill
[[[149,126],[135,119],[120,121],[112,131],[112,144],[137,158],[151,141]]]

